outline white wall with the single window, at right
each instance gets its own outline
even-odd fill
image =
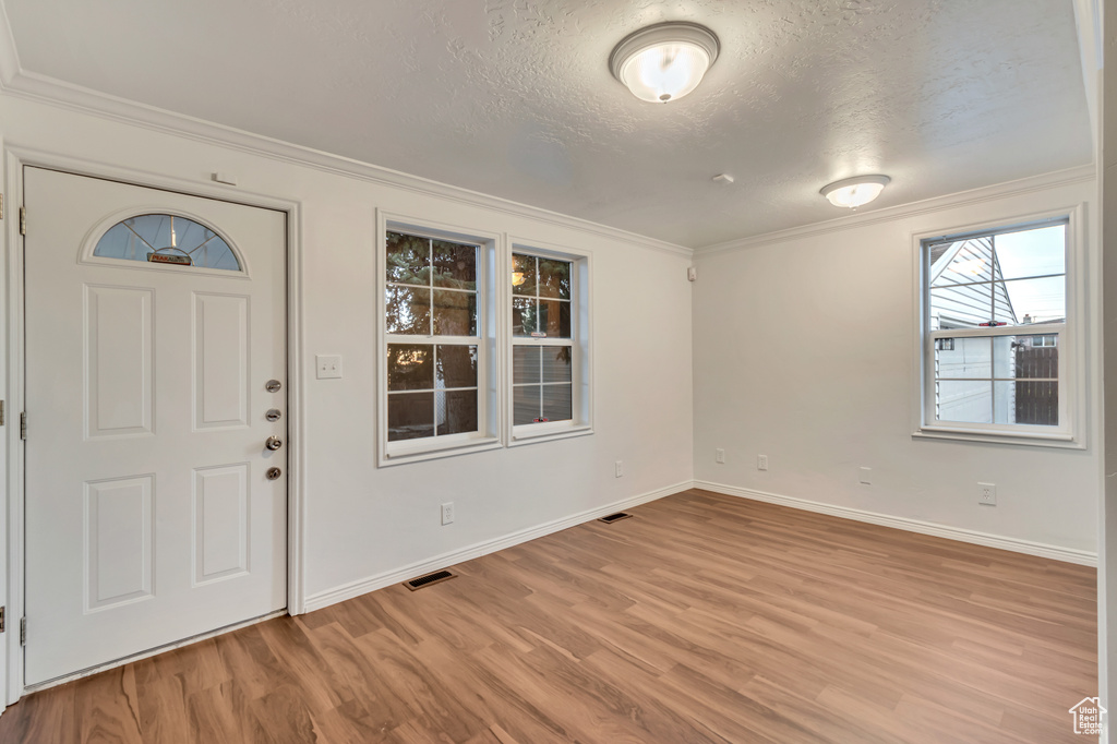
[[[1099,417],[1086,391],[1089,448],[913,439],[913,235],[1013,220],[1096,200],[1095,181],[1005,198],[983,190],[866,213],[696,257],[695,477],[735,488],[1069,549],[1097,550]],[[942,208],[945,204],[954,204]],[[1089,204],[1089,210],[1094,204]],[[1089,220],[1086,220],[1088,223]],[[799,237],[796,237],[799,236]],[[1086,276],[1090,385],[1098,251]],[[715,462],[715,448],[726,462]],[[756,469],[757,454],[770,470]],[[858,468],[873,483],[858,483]],[[997,486],[977,505],[977,481]]]

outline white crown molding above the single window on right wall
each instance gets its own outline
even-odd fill
[[[1018,197],[1033,191],[1043,191],[1046,189],[1082,183],[1092,181],[1096,177],[1097,173],[1092,164],[1079,165],[1061,171],[1053,171],[1051,173],[1030,175],[1016,181],[1006,181],[1005,183],[971,189],[970,191],[958,191],[957,193],[946,194],[944,197],[933,197],[923,201],[913,201],[907,204],[886,207],[885,209],[871,212],[857,212],[846,217],[825,220],[824,222],[813,222],[811,225],[789,228],[786,230],[776,230],[774,232],[765,232],[763,235],[747,238],[728,240],[713,246],[695,248],[694,254],[695,256],[710,256],[714,254],[724,254],[734,250],[760,248],[761,246],[768,246],[786,240],[813,238],[820,235],[832,233],[838,230],[850,230],[869,225],[879,225],[880,222],[892,222],[895,220],[918,217],[920,214],[933,214],[934,212],[954,209],[955,207],[980,204],[982,202],[1008,199],[1010,197]]]

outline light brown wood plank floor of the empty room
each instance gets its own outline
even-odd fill
[[[25,698],[0,742],[1077,742],[1095,571],[691,490]]]

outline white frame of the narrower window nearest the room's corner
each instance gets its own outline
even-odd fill
[[[592,372],[592,328],[593,328],[593,287],[592,264],[593,254],[589,250],[555,246],[540,240],[509,237],[508,250],[504,255],[504,266],[500,282],[504,292],[500,293],[504,308],[505,346],[505,380],[507,380],[505,400],[505,428],[508,431],[508,447],[533,445],[555,439],[583,437],[593,433],[593,372]],[[570,261],[571,267],[571,337],[567,338],[533,338],[512,335],[512,255],[525,254],[540,258],[552,258]],[[515,346],[571,346],[571,371],[573,391],[571,400],[570,421],[546,421],[541,423],[513,423],[513,349]]]

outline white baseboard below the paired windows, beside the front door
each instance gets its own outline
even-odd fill
[[[552,533],[566,530],[567,527],[591,522],[598,517],[605,516],[607,514],[612,514],[613,512],[631,508],[633,506],[639,506],[640,504],[655,502],[659,498],[663,498],[665,496],[678,494],[687,490],[691,487],[691,485],[693,481],[686,480],[684,483],[675,484],[674,486],[667,486],[666,488],[659,488],[647,494],[640,494],[639,496],[631,496],[619,502],[613,502],[612,504],[607,504],[605,506],[599,506],[598,508],[590,509],[588,512],[581,512],[580,514],[573,514],[561,519],[547,522],[546,524],[541,524],[535,527],[521,530],[519,532],[514,532],[512,534],[504,535],[503,537],[475,543],[468,547],[450,551],[449,553],[442,553],[441,555],[436,555],[435,557],[420,561],[419,563],[412,563],[392,571],[379,573],[374,576],[359,579],[357,581],[342,584],[341,586],[336,586],[334,589],[327,589],[324,592],[311,594],[306,598],[305,609],[307,612],[321,610],[324,607],[330,607],[331,604],[336,604],[337,602],[344,602],[345,600],[367,594],[369,592],[383,589],[384,586],[402,583],[408,579],[414,579],[416,576],[421,576],[424,573],[438,571],[439,569],[445,569],[454,565],[455,563],[471,561],[475,557],[488,555],[489,553],[502,551],[505,547],[512,547],[513,545],[526,543],[527,541],[535,540],[536,537],[543,537],[544,535],[550,535]]]

